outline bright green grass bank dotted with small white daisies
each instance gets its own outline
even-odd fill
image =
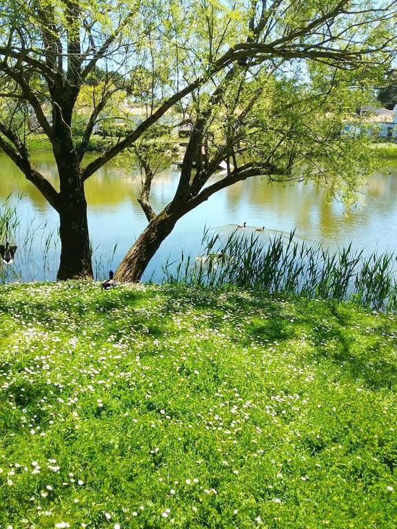
[[[1,287],[0,528],[395,529],[396,318]]]

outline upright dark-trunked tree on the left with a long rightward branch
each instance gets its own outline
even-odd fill
[[[177,54],[178,68],[173,72],[170,30],[177,30],[182,40],[198,39],[181,18],[182,12],[193,10],[194,5],[167,0],[1,2],[0,147],[59,214],[59,279],[92,277],[85,180],[133,145],[175,103],[241,58],[241,50],[231,46],[233,39],[240,42],[238,23],[230,23],[222,54],[210,63],[199,61],[194,79],[185,81],[179,69],[191,59],[185,52]],[[226,8],[224,17],[227,12],[232,8]],[[172,25],[176,19],[177,27]],[[150,72],[146,118],[83,167],[96,123],[112,106],[114,93],[123,89],[124,81],[133,84],[131,76],[141,76],[143,69]],[[80,96],[87,86],[92,87],[91,112],[81,131],[77,102],[90,93],[85,90]],[[32,115],[54,153],[58,189],[32,164],[26,141],[26,122]]]

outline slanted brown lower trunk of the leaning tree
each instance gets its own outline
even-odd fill
[[[137,282],[141,279],[147,264],[159,249],[161,242],[170,235],[178,220],[163,211],[157,215],[146,227],[145,231],[136,239],[116,270],[114,278],[121,282]]]

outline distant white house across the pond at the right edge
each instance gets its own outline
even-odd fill
[[[397,105],[393,110],[387,108],[365,105],[357,110],[360,122],[351,119],[346,123],[345,134],[361,134],[377,136],[385,141],[397,141]]]

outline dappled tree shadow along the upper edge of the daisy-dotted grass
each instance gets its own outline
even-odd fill
[[[114,342],[125,336],[141,337],[147,342],[148,338],[161,341],[164,333],[183,333],[171,323],[174,313],[186,308],[192,310],[192,324],[225,332],[241,346],[253,342],[263,347],[272,342],[283,346],[305,336],[310,340],[314,360],[327,358],[342,366],[345,375],[363,380],[370,388],[389,388],[397,383],[397,366],[391,351],[397,336],[395,340],[385,339],[396,331],[394,322],[376,320],[375,315],[358,307],[267,293],[178,286],[112,291],[98,287],[96,295],[92,287],[85,293],[83,284],[72,284],[68,293],[63,297],[62,290],[54,290],[48,298],[30,296],[26,302],[21,297],[13,301],[10,292],[6,303],[1,303],[0,314],[17,313],[25,325],[41,323],[50,329],[56,321],[58,329],[65,333],[74,322],[71,333],[87,333],[91,338],[99,333],[99,342]],[[159,309],[157,302],[161,304]],[[225,318],[226,313],[232,315],[231,321]],[[205,318],[200,318],[201,314]],[[196,320],[194,315],[198,316]],[[241,324],[243,332],[234,333],[234,322]],[[150,347],[147,353],[157,354]]]

